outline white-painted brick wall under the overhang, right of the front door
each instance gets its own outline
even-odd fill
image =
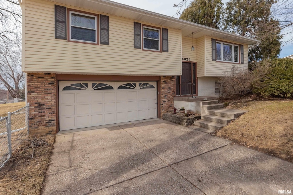
[[[198,82],[198,96],[214,96],[215,95],[215,81],[218,77],[199,77]]]

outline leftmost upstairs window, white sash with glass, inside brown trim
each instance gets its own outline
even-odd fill
[[[97,21],[97,15],[69,11],[69,40],[98,44]]]

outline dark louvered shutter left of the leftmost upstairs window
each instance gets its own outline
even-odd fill
[[[66,39],[66,7],[55,5],[55,39]]]

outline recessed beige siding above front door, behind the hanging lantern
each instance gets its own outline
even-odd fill
[[[190,58],[191,62],[197,61],[197,50],[191,51],[192,38],[182,37],[182,58]],[[193,38],[193,46],[196,47],[196,39]]]

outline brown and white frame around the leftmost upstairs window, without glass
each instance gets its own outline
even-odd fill
[[[87,14],[87,15],[92,15],[92,16],[96,16],[96,40],[97,42],[96,43],[92,43],[92,42],[86,42],[86,41],[76,41],[76,40],[70,40],[71,39],[71,36],[70,36],[70,29],[71,29],[71,26],[70,26],[70,21],[71,21],[71,14],[70,12],[77,12],[77,13],[81,13],[82,14]],[[90,13],[90,12],[86,12],[86,11],[80,11],[80,10],[76,10],[76,9],[71,9],[71,8],[67,8],[67,42],[73,42],[73,43],[83,43],[83,44],[91,44],[91,45],[99,45],[99,14],[96,14],[96,13]]]

